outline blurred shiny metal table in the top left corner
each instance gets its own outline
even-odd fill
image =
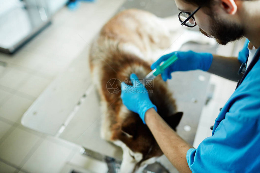
[[[0,0],[0,52],[12,54],[50,25],[67,0]]]

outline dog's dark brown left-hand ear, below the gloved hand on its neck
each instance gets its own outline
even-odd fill
[[[138,120],[135,116],[129,116],[121,126],[121,132],[128,138],[135,138],[138,130]]]

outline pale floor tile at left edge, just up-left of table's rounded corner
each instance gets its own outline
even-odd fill
[[[31,100],[19,95],[13,95],[0,107],[0,116],[13,122],[20,123],[22,115],[31,104]]]

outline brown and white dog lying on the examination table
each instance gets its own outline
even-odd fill
[[[104,112],[101,137],[123,149],[121,173],[140,171],[163,155],[138,114],[122,104],[120,82],[128,79],[131,73],[142,79],[151,72],[151,63],[158,58],[158,55],[154,57],[155,52],[163,53],[171,45],[170,35],[175,29],[168,19],[130,9],[109,20],[93,40],[89,64]],[[119,81],[112,85],[119,92],[108,91],[107,84],[111,79]],[[149,97],[158,108],[158,114],[175,130],[182,113],[177,112],[167,83],[157,77],[153,86],[146,88],[152,91]]]

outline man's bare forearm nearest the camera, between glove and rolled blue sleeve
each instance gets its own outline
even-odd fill
[[[187,151],[193,148],[184,141],[154,110],[145,113],[145,122],[163,153],[179,172],[191,172],[186,160]]]

